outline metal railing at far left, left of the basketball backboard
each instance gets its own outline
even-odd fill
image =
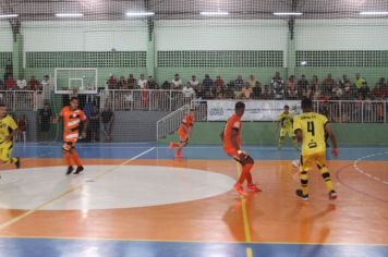
[[[10,111],[36,111],[41,108],[44,96],[35,90],[0,90],[0,102]]]

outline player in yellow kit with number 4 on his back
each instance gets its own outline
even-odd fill
[[[303,200],[308,200],[308,171],[317,166],[325,180],[329,192],[329,199],[336,199],[337,193],[332,187],[330,172],[326,168],[326,140],[325,132],[328,134],[332,149],[331,154],[338,156],[337,139],[331,131],[331,125],[325,115],[314,112],[313,101],[302,100],[303,113],[295,117],[293,131],[296,139],[302,143],[302,154],[300,163],[301,189],[296,189],[296,195]]]

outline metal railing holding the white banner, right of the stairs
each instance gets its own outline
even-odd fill
[[[196,120],[207,121],[207,102],[211,100],[193,100]],[[265,100],[248,100],[265,101]],[[329,100],[314,101],[314,109],[325,113],[331,122],[348,123],[387,123],[387,100]]]

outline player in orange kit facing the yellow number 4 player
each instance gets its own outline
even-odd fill
[[[242,186],[245,180],[247,182],[248,191],[262,191],[252,181],[251,170],[253,168],[254,160],[241,148],[241,117],[244,114],[244,102],[237,102],[235,113],[228,119],[227,124],[220,135],[223,142],[225,152],[242,166],[240,178],[233,186],[234,189],[241,195],[245,195]]]

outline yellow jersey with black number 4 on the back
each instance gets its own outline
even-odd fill
[[[327,122],[326,117],[316,112],[304,112],[295,117],[293,131],[302,131],[302,156],[326,151],[325,125]]]

